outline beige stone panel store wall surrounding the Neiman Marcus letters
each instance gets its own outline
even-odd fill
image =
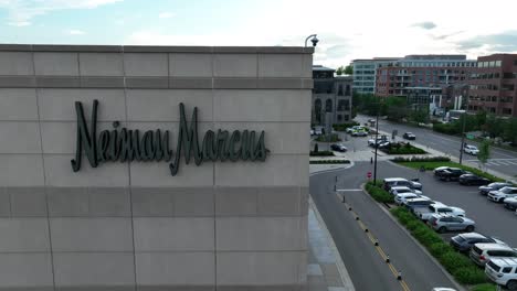
[[[0,290],[304,290],[313,48],[0,45]],[[265,130],[265,162],[73,172],[98,129]],[[202,137],[200,137],[202,138]]]

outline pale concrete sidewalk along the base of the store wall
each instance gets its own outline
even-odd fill
[[[327,166],[327,169],[324,169]],[[346,165],[348,168],[350,165]],[[341,166],[342,168],[342,166]],[[336,165],[310,165],[310,173],[336,169]],[[309,196],[308,291],[355,291],[351,279],[339,256],[325,222]]]

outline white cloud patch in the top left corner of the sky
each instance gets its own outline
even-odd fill
[[[56,10],[93,9],[123,0],[0,0],[0,9],[8,11],[8,24],[27,26],[34,17]]]

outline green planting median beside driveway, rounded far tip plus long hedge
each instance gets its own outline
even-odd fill
[[[374,184],[372,181],[369,181],[366,183],[365,188],[378,202],[393,202],[393,196],[381,187],[381,182]],[[465,255],[455,251],[439,234],[412,215],[408,209],[404,207],[394,207],[391,208],[390,212],[399,223],[436,258],[457,282],[469,285],[469,289],[473,291],[496,290],[494,284],[488,283],[483,269],[479,269]]]

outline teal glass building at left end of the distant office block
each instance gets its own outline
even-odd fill
[[[400,57],[373,57],[366,60],[354,60],[351,63],[354,68],[354,93],[374,94],[377,68],[397,60],[400,60]]]

